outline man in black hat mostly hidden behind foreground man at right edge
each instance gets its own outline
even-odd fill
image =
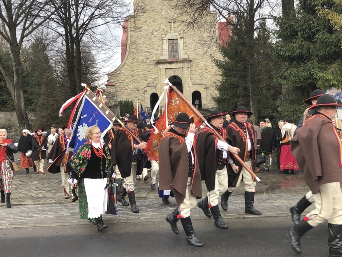
[[[322,90],[316,89],[311,93],[310,97],[305,100],[305,103],[314,106],[316,105],[318,98],[324,94],[325,93]],[[296,135],[297,130],[301,128],[306,123],[307,119],[310,118],[314,113],[315,110],[313,108],[307,108],[305,110],[304,114],[299,119],[294,135]],[[313,204],[313,201],[314,199],[312,192],[309,191],[301,198],[301,200],[297,202],[297,204],[290,208],[293,223],[298,224],[300,222],[301,214],[306,210],[306,208]]]

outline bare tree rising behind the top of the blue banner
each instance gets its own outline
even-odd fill
[[[84,82],[82,41],[98,48],[109,46],[114,39],[110,28],[122,23],[129,4],[125,0],[54,0],[54,3],[56,6],[62,3],[63,7],[50,19],[57,26],[49,28],[63,37],[70,93],[75,95]]]

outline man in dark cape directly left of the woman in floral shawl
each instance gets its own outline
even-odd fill
[[[67,163],[72,157],[73,152],[68,151],[67,145],[70,140],[72,130],[67,129],[67,126],[62,126],[62,129],[64,130],[64,135],[61,135],[57,138],[57,140],[53,144],[52,149],[49,153],[48,159],[51,159],[54,161],[49,166],[47,171],[53,174],[58,173],[59,171],[61,172],[64,199],[68,199],[69,198],[69,183],[68,183],[69,171],[67,170]]]

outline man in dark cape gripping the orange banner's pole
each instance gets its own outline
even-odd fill
[[[228,188],[228,154],[227,152],[238,153],[240,149],[227,143],[227,132],[223,126],[223,117],[227,112],[222,113],[219,110],[213,111],[206,118],[209,125],[206,125],[197,137],[196,153],[199,162],[201,178],[207,186],[207,196],[198,203],[198,207],[207,217],[214,217],[214,225],[221,229],[227,229],[227,224],[223,221],[219,209],[219,195],[226,192]],[[221,141],[215,134],[216,131],[225,141]],[[213,165],[213,160],[216,165]],[[237,172],[238,167],[233,169]],[[210,208],[210,211],[209,211]]]

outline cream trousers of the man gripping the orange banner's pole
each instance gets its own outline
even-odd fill
[[[226,166],[215,173],[215,189],[207,193],[208,202],[211,206],[219,204],[219,195],[226,192],[228,188],[228,175]]]

